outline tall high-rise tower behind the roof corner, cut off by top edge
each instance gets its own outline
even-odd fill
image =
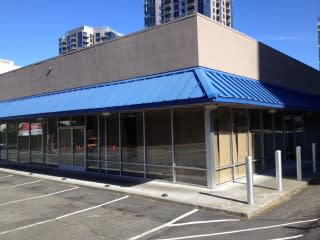
[[[145,27],[197,12],[225,26],[233,26],[232,0],[145,0]]]

